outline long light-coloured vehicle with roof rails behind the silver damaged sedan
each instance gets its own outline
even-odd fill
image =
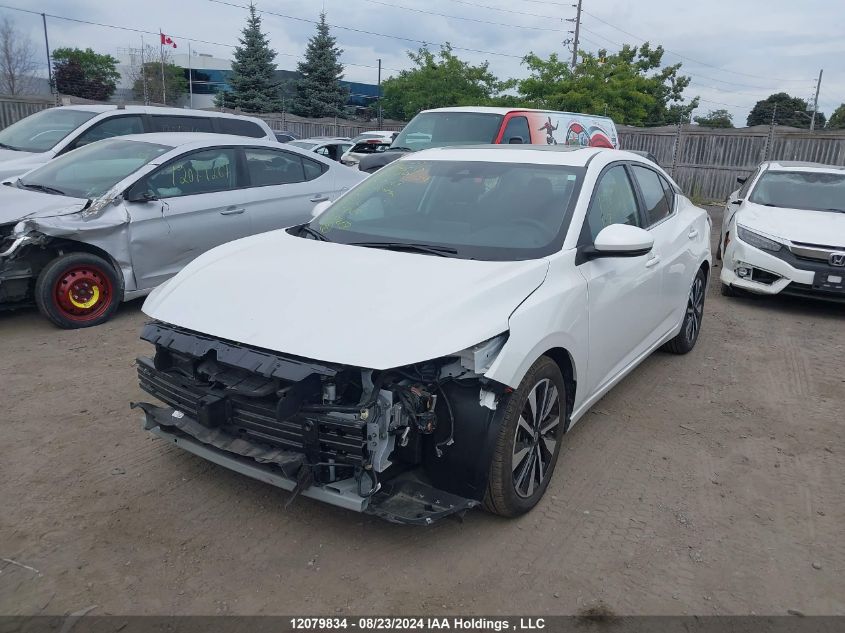
[[[275,140],[261,119],[148,106],[79,105],[36,112],[0,131],[0,179],[94,141],[146,132],[216,132]]]

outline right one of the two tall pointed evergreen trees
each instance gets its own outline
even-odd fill
[[[294,114],[308,117],[337,116],[343,111],[348,91],[340,85],[343,64],[337,40],[329,34],[326,14],[320,14],[317,33],[308,41],[305,59],[297,65],[302,76],[296,84]]]

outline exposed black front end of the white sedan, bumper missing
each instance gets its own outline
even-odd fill
[[[135,403],[145,428],[224,466],[401,523],[461,515],[483,499],[493,427],[509,390],[484,378],[506,337],[374,371],[222,341],[160,322],[141,338]]]

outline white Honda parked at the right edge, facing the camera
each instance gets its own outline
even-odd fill
[[[845,300],[845,168],[767,162],[740,182],[722,221],[722,294]]]

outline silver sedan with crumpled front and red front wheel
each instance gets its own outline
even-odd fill
[[[92,143],[0,186],[0,310],[97,325],[215,246],[310,220],[364,176],[246,137]]]

